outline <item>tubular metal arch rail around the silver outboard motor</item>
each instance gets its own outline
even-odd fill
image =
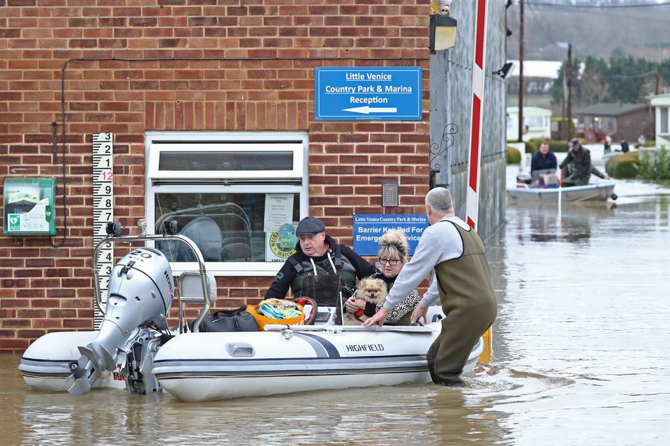
[[[112,226],[110,226],[112,225]],[[189,239],[188,237],[185,237],[184,235],[181,234],[147,234],[144,232],[146,230],[146,225],[142,224],[141,222],[138,224],[140,227],[140,234],[137,235],[120,235],[120,228],[121,225],[117,225],[117,223],[108,223],[108,228],[107,228],[107,237],[102,239],[101,241],[98,241],[96,246],[94,247],[93,251],[93,267],[91,268],[91,272],[93,272],[94,276],[94,302],[98,309],[101,311],[101,313],[105,313],[105,309],[103,308],[103,302],[102,302],[102,296],[101,296],[101,289],[100,289],[100,276],[99,276],[99,269],[98,269],[98,256],[100,255],[100,251],[103,248],[103,246],[107,246],[107,244],[112,244],[114,246],[115,244],[119,242],[126,242],[129,244],[132,244],[137,241],[165,241],[165,240],[177,240],[180,241],[181,243],[186,244],[189,248],[191,248],[191,251],[193,251],[193,254],[195,255],[195,260],[198,262],[198,272],[191,272],[190,274],[198,274],[200,276],[200,283],[202,284],[202,309],[200,310],[200,313],[198,314],[198,318],[195,319],[195,322],[193,322],[193,332],[198,332],[198,327],[200,327],[200,323],[204,320],[204,318],[209,314],[209,307],[212,302],[214,302],[214,295],[212,295],[211,290],[208,286],[208,279],[207,279],[207,269],[205,269],[204,266],[204,258],[202,257],[202,253],[200,252],[200,248],[198,248],[198,245],[196,245],[193,240]],[[181,290],[179,290],[181,292]],[[180,308],[179,311],[179,327],[184,327],[184,320],[182,311]]]

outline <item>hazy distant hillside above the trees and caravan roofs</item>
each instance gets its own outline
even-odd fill
[[[536,0],[539,3],[539,0]],[[551,0],[549,0],[551,1]],[[547,0],[542,0],[546,3]],[[636,0],[634,3],[650,3]],[[515,1],[516,3],[516,1]],[[570,3],[560,0],[560,3]],[[595,4],[589,1],[588,4]],[[598,3],[631,3],[604,1]],[[584,4],[583,2],[581,4]],[[619,56],[641,57],[649,61],[670,59],[670,5],[648,8],[557,8],[526,1],[524,59],[563,60],[565,45],[572,43],[573,55],[583,60],[592,55],[609,59]],[[519,58],[519,5],[507,9],[507,58]]]

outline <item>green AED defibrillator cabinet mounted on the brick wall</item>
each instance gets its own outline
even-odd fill
[[[6,178],[3,235],[56,235],[56,180]]]

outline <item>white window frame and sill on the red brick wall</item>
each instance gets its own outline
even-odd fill
[[[179,144],[172,147],[166,141]],[[199,143],[200,142],[200,143]],[[271,142],[271,146],[263,143]],[[254,144],[259,144],[258,147]],[[144,214],[147,222],[155,221],[156,193],[298,193],[300,218],[308,215],[309,170],[308,135],[306,132],[195,132],[149,131],[144,134],[147,160],[144,193]],[[166,151],[293,151],[292,170],[211,170],[193,172],[159,171],[158,156]],[[154,232],[154,225],[147,225]],[[178,276],[192,271],[194,262],[172,262]],[[283,262],[207,262],[215,276],[275,276]]]

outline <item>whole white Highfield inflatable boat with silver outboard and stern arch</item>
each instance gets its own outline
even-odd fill
[[[216,283],[198,246],[184,235],[112,234],[100,241],[94,249],[96,304],[102,307],[97,253],[118,241],[180,241],[193,251],[198,272],[179,276],[174,297],[165,255],[148,246],[133,249],[112,269],[98,331],[54,332],[27,348],[19,369],[29,387],[73,395],[95,387],[142,394],[165,389],[181,401],[206,401],[431,380],[426,352],[440,333],[439,307],[431,308],[431,322],[424,326],[359,327],[338,325],[341,305],[317,302],[305,308],[308,316],[314,312],[313,325],[202,333],[198,327],[216,302]],[[179,325],[168,329],[173,299],[179,301]],[[193,302],[202,308],[188,332],[181,305]],[[463,373],[472,371],[483,349],[480,339]]]

